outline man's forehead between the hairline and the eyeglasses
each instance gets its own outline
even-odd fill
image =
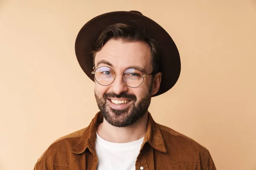
[[[96,53],[96,67],[106,65],[101,61],[108,62],[116,71],[123,71],[122,69],[134,66],[143,68],[145,71],[152,70],[150,47],[146,42],[142,41],[109,40],[101,51]]]

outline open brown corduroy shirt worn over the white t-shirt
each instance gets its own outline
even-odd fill
[[[96,125],[101,122],[103,117],[99,112],[88,127],[52,143],[38,159],[34,170],[96,170]],[[135,166],[136,170],[216,170],[205,147],[157,124],[150,113]]]

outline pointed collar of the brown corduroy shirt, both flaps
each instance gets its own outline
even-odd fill
[[[81,139],[76,144],[75,147],[71,149],[72,153],[80,154],[83,153],[87,148],[96,156],[95,142],[96,142],[96,125],[103,122],[103,116],[100,112],[90,122],[90,125],[85,128]],[[145,143],[149,143],[151,147],[160,152],[166,153],[166,147],[164,144],[162,133],[157,125],[154,122],[150,113],[148,113],[148,127],[147,132],[144,137],[142,147]]]

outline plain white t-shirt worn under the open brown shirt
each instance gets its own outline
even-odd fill
[[[128,143],[113,143],[96,137],[97,170],[135,170],[143,138]]]

